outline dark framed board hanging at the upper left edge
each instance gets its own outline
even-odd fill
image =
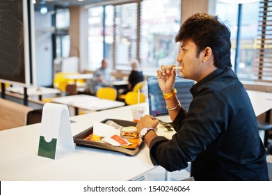
[[[34,83],[33,4],[31,0],[0,1],[0,82]],[[32,15],[31,15],[32,14]]]

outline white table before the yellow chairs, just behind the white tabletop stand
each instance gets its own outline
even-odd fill
[[[70,95],[65,97],[53,98],[53,102],[67,104],[75,108],[75,114],[79,114],[79,109],[90,111],[100,111],[125,106],[124,102],[100,99],[92,95]]]

